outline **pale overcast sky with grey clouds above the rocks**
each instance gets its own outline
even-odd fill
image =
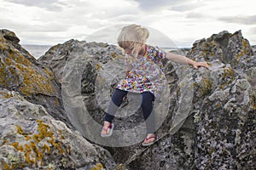
[[[114,34],[114,31],[109,31],[109,27],[135,23],[160,31],[178,48],[190,48],[196,40],[220,31],[234,33],[238,30],[241,30],[243,37],[251,45],[255,45],[254,2],[255,0],[0,0],[0,29],[15,31],[21,44],[55,45],[72,38],[86,40],[86,37],[99,35],[102,31],[102,36]]]

